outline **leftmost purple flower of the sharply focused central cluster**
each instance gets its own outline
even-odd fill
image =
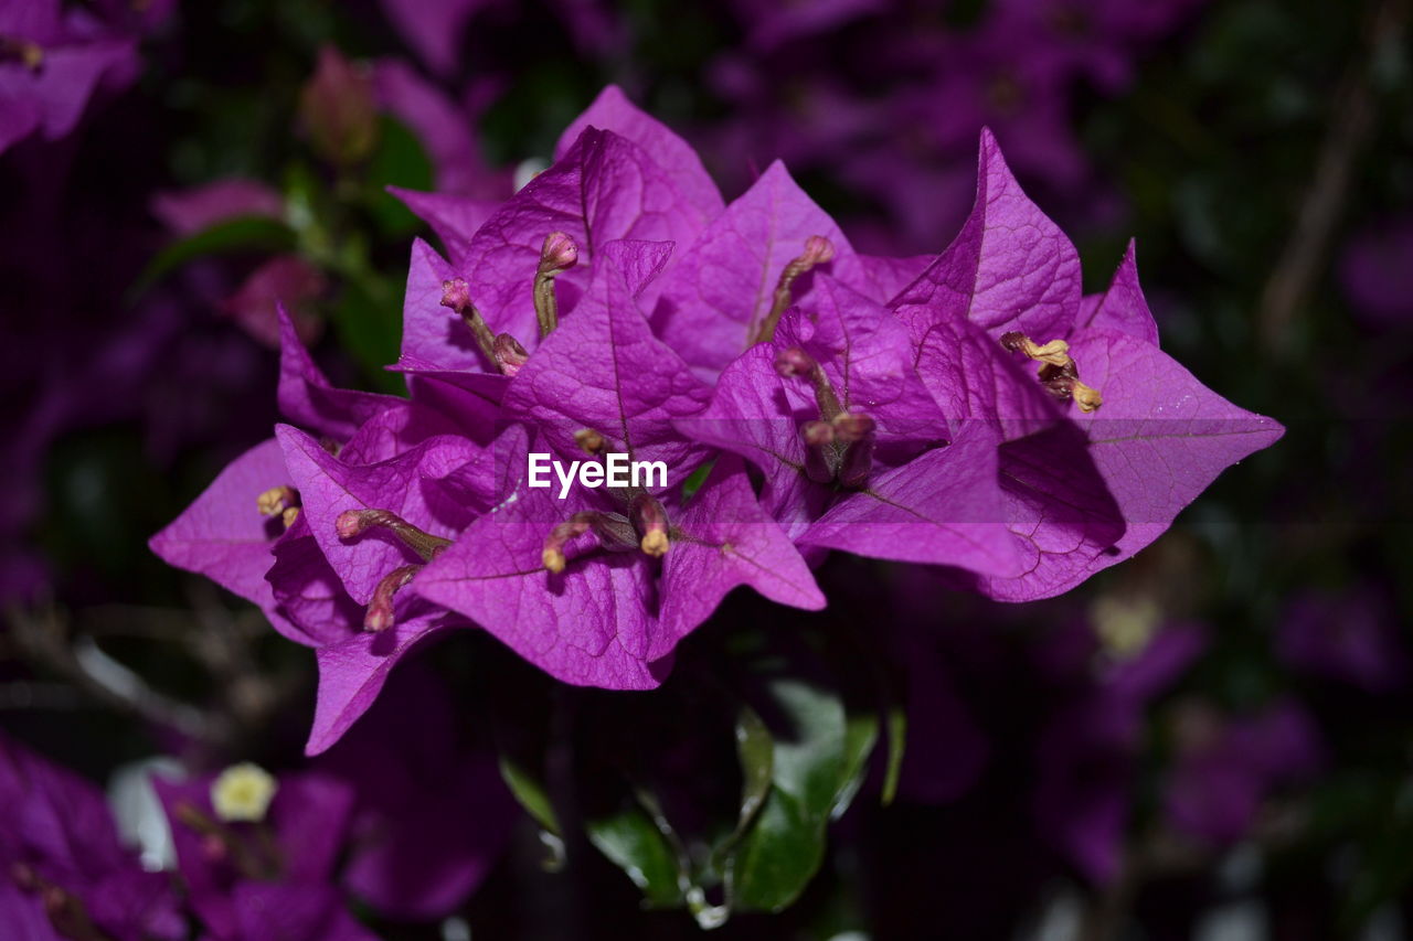
[[[407,650],[465,625],[400,591],[425,558],[394,533],[430,554],[487,504],[483,489],[492,485],[465,466],[485,451],[463,424],[417,401],[335,389],[283,311],[281,331],[281,410],[322,439],[283,427],[278,439],[222,472],[151,547],[318,649],[321,695],[308,743],[317,753],[367,709]],[[345,538],[345,510],[394,516],[374,514],[367,533]],[[366,630],[370,623],[382,630]]]

